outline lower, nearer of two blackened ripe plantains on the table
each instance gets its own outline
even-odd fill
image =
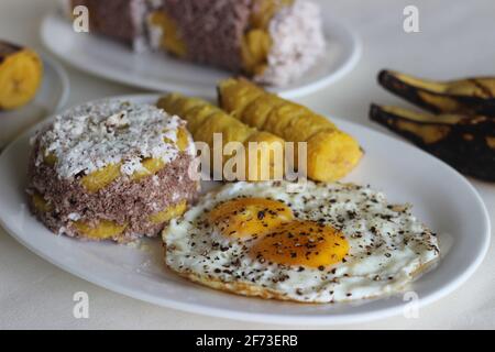
[[[495,118],[419,113],[372,105],[370,119],[459,172],[495,182]]]

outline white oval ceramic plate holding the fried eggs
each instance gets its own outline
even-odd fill
[[[125,97],[154,102],[156,96]],[[431,302],[461,285],[482,262],[490,240],[486,209],[469,182],[420,150],[333,119],[361,142],[365,156],[345,180],[371,184],[388,199],[411,202],[414,213],[437,231],[442,260],[410,289],[418,304]],[[51,233],[26,209],[29,138],[13,142],[0,157],[0,222],[22,244],[53,264],[97,285],[161,306],[232,319],[274,323],[341,323],[400,314],[402,295],[341,305],[304,305],[230,295],[189,283],[168,272],[160,240],[141,245],[88,243]],[[206,185],[211,186],[211,185]],[[416,297],[407,296],[406,298]]]

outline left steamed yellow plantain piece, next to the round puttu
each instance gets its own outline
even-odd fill
[[[249,173],[249,170],[254,169],[254,167],[250,164],[251,161],[249,154],[244,155],[245,176],[248,180],[273,179],[277,176],[277,169],[282,170],[282,174],[285,172],[283,139],[277,138],[272,133],[251,128],[234,119],[222,109],[202,99],[187,98],[178,94],[172,94],[161,98],[157,102],[157,107],[164,109],[168,113],[174,113],[185,119],[187,121],[187,129],[193,134],[194,140],[206,142],[211,147],[211,158],[213,157],[213,147],[216,146],[213,144],[215,133],[221,133],[222,135],[221,147],[224,147],[229,142],[240,142],[245,146],[246,153],[249,153],[250,142],[264,142],[260,143],[258,150],[253,151],[253,153],[257,155],[256,174],[254,172],[251,174]],[[282,157],[279,161],[275,158],[275,154],[273,153],[274,148],[279,148],[282,151],[282,155],[278,155]],[[220,151],[220,153],[222,153],[222,151]],[[222,165],[224,166],[229,163],[234,155],[235,154],[232,156],[223,155]],[[280,164],[276,164],[277,162]],[[267,172],[265,174],[262,173],[262,165],[267,166]],[[280,175],[280,177],[282,176],[283,175]]]

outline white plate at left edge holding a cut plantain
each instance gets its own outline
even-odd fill
[[[69,94],[69,80],[65,68],[46,55],[43,59],[43,81],[36,97],[26,106],[0,111],[0,150],[23,130],[62,108]]]

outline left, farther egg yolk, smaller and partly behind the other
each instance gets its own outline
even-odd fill
[[[209,215],[223,235],[245,239],[272,232],[294,219],[285,204],[265,198],[239,198],[223,202]]]

